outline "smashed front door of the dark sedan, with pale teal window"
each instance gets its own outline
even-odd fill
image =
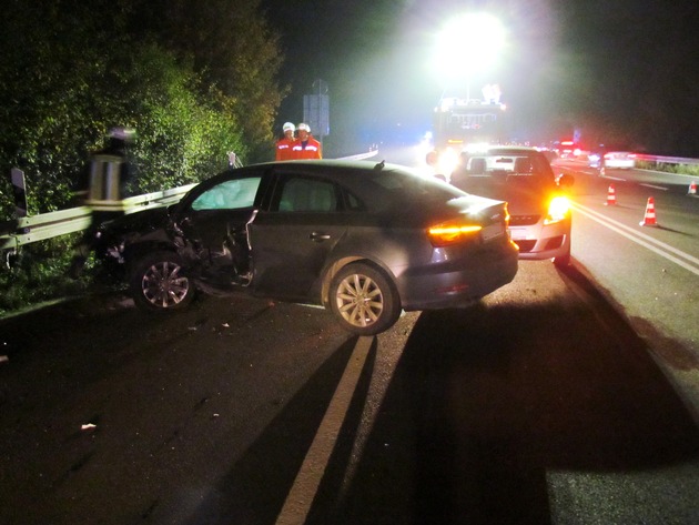
[[[196,196],[178,218],[184,233],[181,250],[201,276],[221,284],[249,271],[245,225],[254,213],[261,173],[219,182]]]

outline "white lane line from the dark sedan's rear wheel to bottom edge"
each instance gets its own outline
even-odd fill
[[[373,341],[374,337],[359,337],[354,346],[321,426],[276,518],[276,525],[302,525],[306,521]]]

